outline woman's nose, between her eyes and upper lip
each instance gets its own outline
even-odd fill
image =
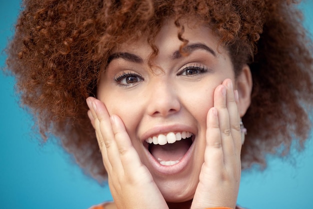
[[[166,117],[178,112],[181,108],[179,95],[174,85],[167,79],[159,79],[150,83],[147,113],[150,116]]]

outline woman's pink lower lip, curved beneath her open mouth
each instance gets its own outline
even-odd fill
[[[191,158],[191,153],[193,150],[193,144],[194,141],[192,142],[191,146],[189,147],[189,149],[187,150],[187,152],[183,155],[183,157],[179,160],[179,162],[177,162],[176,164],[173,165],[162,165],[159,163],[158,160],[156,160],[153,155],[147,150],[147,158],[150,162],[150,164],[152,165],[153,169],[158,172],[159,174],[162,175],[173,175],[173,174],[177,174],[179,172],[181,172],[182,170],[184,170],[187,165],[188,162],[190,161]]]

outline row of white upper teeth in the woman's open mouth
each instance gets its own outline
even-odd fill
[[[189,138],[191,135],[192,134],[188,131],[182,131],[177,133],[169,132],[166,135],[159,134],[157,136],[148,137],[147,139],[145,139],[145,141],[148,143],[164,145],[166,143],[174,143],[175,141],[179,141],[183,138]]]

